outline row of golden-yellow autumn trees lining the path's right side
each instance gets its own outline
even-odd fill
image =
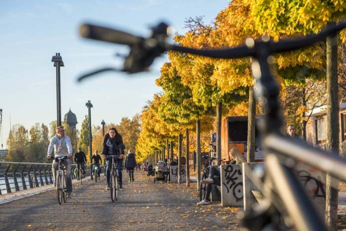
[[[176,35],[174,41],[187,47],[215,49],[240,45],[248,37],[269,37],[274,41],[299,37],[317,33],[328,23],[338,22],[345,9],[345,1],[334,0],[233,0],[211,24],[204,24],[202,17],[188,18],[186,26],[189,31]],[[263,34],[265,37],[262,37]],[[341,35],[344,41],[345,33]],[[311,113],[306,113],[326,104],[330,106],[327,112],[327,147],[338,153],[338,84],[343,89],[340,91],[340,98],[343,99],[346,86],[345,78],[338,83],[337,46],[338,36],[332,36],[325,43],[276,55],[268,61],[272,63],[282,87],[281,102],[286,109],[286,121],[294,123],[304,138],[306,123],[311,116]],[[343,49],[340,53],[345,58]],[[254,80],[250,70],[252,60],[212,59],[178,52],[168,52],[168,55],[170,62],[162,66],[161,76],[156,80],[163,92],[154,95],[154,100],[141,114],[142,131],[137,144],[140,157],[157,160],[157,150],[163,149],[165,144],[168,146],[168,140],[178,141],[175,151],[180,156],[182,134],[186,133],[188,137],[189,129],[195,130],[196,146],[188,145],[186,139],[186,146],[189,146],[186,155],[192,150],[200,153],[200,131],[211,127],[217,130],[217,155],[220,157],[221,117],[239,112],[238,115],[249,116],[248,161],[253,161],[254,118],[256,112],[262,114],[262,105],[261,102],[254,102]],[[339,78],[343,78],[343,73]],[[198,187],[199,176],[197,179]],[[327,184],[327,192],[331,193],[327,193],[326,223],[329,229],[335,230],[336,209],[333,208],[335,201],[332,198],[338,197],[330,187],[330,178],[327,178]]]

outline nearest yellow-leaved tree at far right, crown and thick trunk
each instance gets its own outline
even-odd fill
[[[334,0],[258,0],[250,1],[256,27],[274,39],[317,33],[328,23],[335,23],[345,15],[346,3]],[[342,33],[345,39],[345,33]],[[281,56],[278,63],[288,62],[293,67],[309,64],[311,68],[326,67],[327,79],[327,148],[339,152],[339,99],[338,99],[338,36],[326,39],[326,53],[317,44],[304,52],[292,52],[292,58]],[[326,59],[323,59],[323,56]],[[326,62],[324,62],[326,60]],[[286,65],[287,66],[287,65]],[[327,196],[325,221],[329,230],[337,230],[338,191],[333,189],[332,178],[327,174]]]

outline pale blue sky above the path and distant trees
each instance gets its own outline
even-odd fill
[[[93,104],[93,124],[118,123],[121,117],[140,113],[146,101],[161,89],[155,85],[161,65],[159,58],[152,71],[126,75],[109,73],[78,84],[76,79],[88,70],[119,66],[116,53],[126,53],[122,46],[90,41],[78,35],[83,22],[126,29],[146,36],[148,28],[165,21],[183,33],[184,19],[204,15],[205,22],[214,20],[227,7],[228,0],[10,0],[0,2],[0,108],[5,145],[12,125],[29,129],[36,122],[56,119],[55,68],[51,58],[60,52],[65,67],[61,69],[62,117],[71,110],[80,128],[87,100]]]

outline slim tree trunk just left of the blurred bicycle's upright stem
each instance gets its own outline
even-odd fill
[[[248,144],[247,161],[255,162],[255,127],[256,127],[256,101],[254,86],[249,89],[249,114],[248,114]]]

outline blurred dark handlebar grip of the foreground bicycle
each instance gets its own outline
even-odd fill
[[[83,24],[79,29],[80,35],[85,38],[132,46],[141,43],[144,38],[120,30],[103,26]]]

